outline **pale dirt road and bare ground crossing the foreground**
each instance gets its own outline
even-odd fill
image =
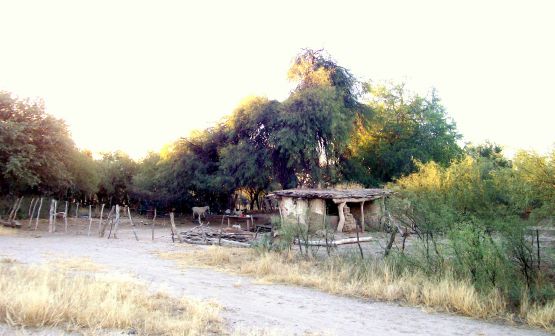
[[[131,274],[145,281],[152,289],[218,302],[224,307],[223,317],[230,330],[269,330],[276,335],[547,335],[539,330],[428,313],[394,303],[259,284],[248,277],[209,269],[182,271],[173,261],[159,258],[156,252],[202,247],[172,243],[169,226],[157,227],[153,242],[150,228],[140,220],[136,223],[138,242],[125,223],[118,239],[97,238],[96,222],[91,236],[87,236],[88,221],[84,219],[77,223],[70,219],[68,233],[46,233],[47,224],[41,223],[36,232],[22,229],[15,234],[0,235],[0,257],[24,263],[89,257],[110,272]],[[63,231],[63,227],[58,228]],[[6,326],[0,327],[2,333],[15,334]]]

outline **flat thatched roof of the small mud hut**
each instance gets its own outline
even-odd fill
[[[278,197],[295,197],[304,199],[353,199],[353,200],[371,200],[381,198],[392,193],[388,189],[288,189],[275,191],[274,195]]]

